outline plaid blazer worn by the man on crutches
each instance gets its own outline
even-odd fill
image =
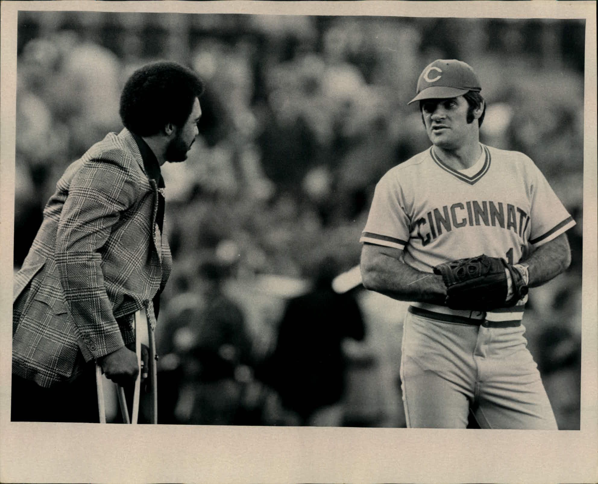
[[[157,209],[127,129],[66,169],[14,276],[13,373],[49,387],[133,342],[139,309],[155,323],[152,298],[172,267]]]

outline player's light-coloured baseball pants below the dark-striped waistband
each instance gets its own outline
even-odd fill
[[[481,428],[557,430],[524,331],[438,321],[410,308],[401,357],[407,427],[466,428],[471,409]]]

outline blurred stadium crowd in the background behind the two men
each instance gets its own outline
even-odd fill
[[[429,145],[407,106],[421,69],[466,60],[482,141],[532,157],[577,221],[524,322],[560,428],[579,428],[583,22],[21,11],[17,40],[15,267],[66,166],[120,131],[134,69],[206,81],[200,136],[163,167],[160,418],[178,424],[404,425],[405,305],[329,282],[359,262],[376,181]]]

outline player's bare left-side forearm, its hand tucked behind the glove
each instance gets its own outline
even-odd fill
[[[382,252],[362,252],[361,273],[365,288],[393,299],[435,304],[446,299],[441,276],[420,272]]]

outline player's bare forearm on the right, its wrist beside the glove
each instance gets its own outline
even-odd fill
[[[555,278],[565,271],[571,263],[571,251],[566,234],[539,246],[526,260],[528,266],[529,287],[537,287]]]

